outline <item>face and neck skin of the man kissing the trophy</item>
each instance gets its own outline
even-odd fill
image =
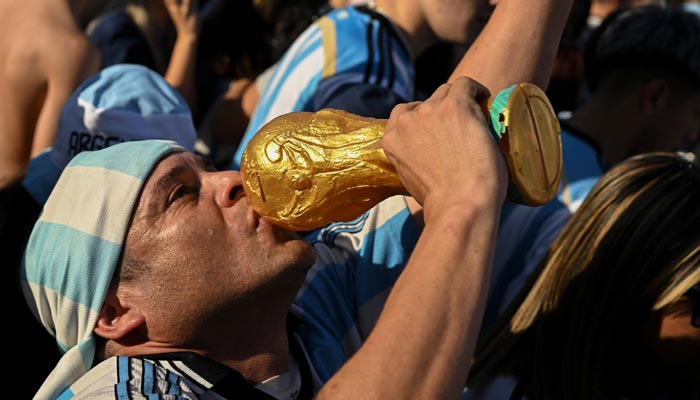
[[[216,172],[190,153],[158,164],[124,251],[147,268],[119,284],[118,303],[107,301],[130,309],[121,318],[137,327],[108,337],[108,354],[196,351],[251,381],[286,370],[286,315],[314,253],[260,218],[240,185],[238,172]]]

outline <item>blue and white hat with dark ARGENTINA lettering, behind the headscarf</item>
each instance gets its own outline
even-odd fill
[[[187,102],[142,65],[105,68],[73,92],[61,111],[53,145],[31,160],[22,184],[43,205],[76,154],[145,139],[172,140],[192,151],[197,131]]]

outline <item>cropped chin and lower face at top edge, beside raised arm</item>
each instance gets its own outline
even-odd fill
[[[421,0],[438,39],[471,44],[486,25],[496,0]]]

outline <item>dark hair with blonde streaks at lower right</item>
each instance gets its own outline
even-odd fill
[[[468,386],[505,374],[535,399],[621,395],[654,311],[700,282],[699,205],[700,169],[677,154],[611,169],[480,342]]]

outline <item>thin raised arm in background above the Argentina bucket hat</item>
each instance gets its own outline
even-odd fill
[[[218,0],[213,0],[218,1]],[[197,44],[201,17],[199,0],[163,0],[175,25],[177,39],[165,72],[165,80],[187,101],[193,114],[197,112]]]

